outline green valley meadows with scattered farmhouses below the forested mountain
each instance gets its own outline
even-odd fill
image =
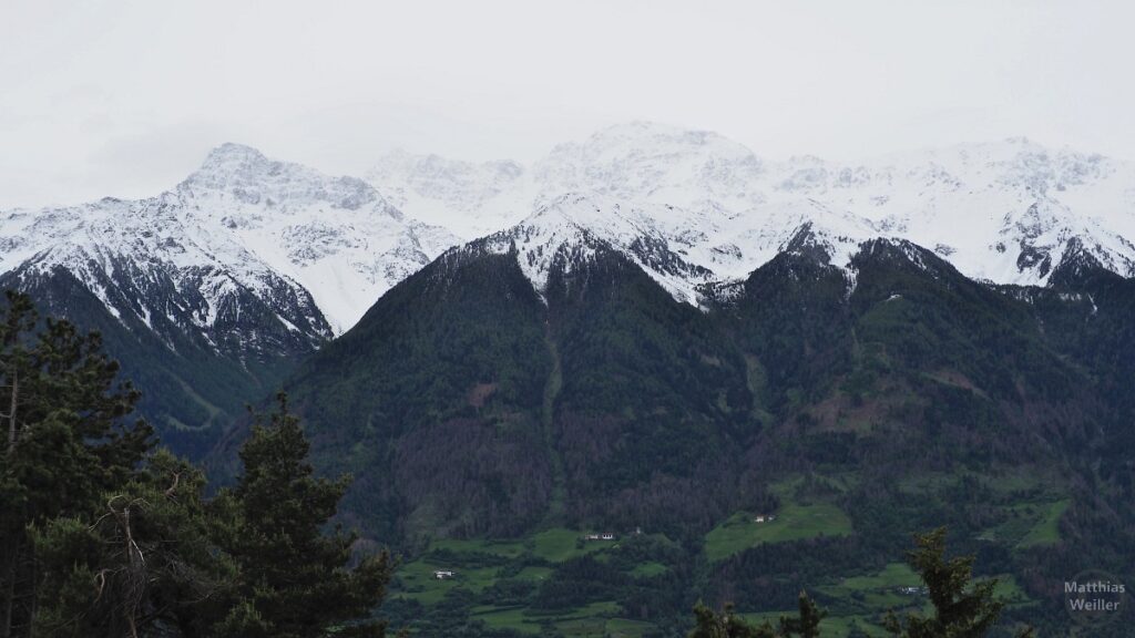
[[[775,624],[793,611],[791,604],[771,606],[774,602],[749,595],[750,586],[780,591],[780,601],[789,603],[805,587],[829,612],[825,638],[884,636],[888,611],[928,605],[903,562],[906,547],[896,546],[884,560],[865,554],[830,570],[819,565],[819,576],[806,582],[797,573],[805,568],[793,560],[857,547],[873,532],[869,519],[847,505],[858,481],[855,475],[793,477],[772,486],[780,502],[774,511],[735,512],[693,539],[568,528],[507,540],[434,539],[398,569],[389,613],[395,627],[401,622],[426,636],[461,628],[465,633],[454,635],[669,638],[684,635],[697,598],[733,601],[746,618]],[[1058,523],[1069,501],[1037,489],[1035,477],[927,473],[909,477],[901,488],[932,498],[973,481],[997,487],[983,505],[991,524],[976,530],[975,543],[1011,556],[1060,540]],[[615,538],[604,540],[604,532]],[[442,571],[452,571],[452,578],[438,578]],[[980,578],[999,579],[998,593],[1010,611],[1027,615],[1039,604],[1009,571]]]

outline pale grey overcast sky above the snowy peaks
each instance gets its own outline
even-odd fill
[[[361,174],[631,119],[771,159],[1016,135],[1133,159],[1133,7],[0,0],[0,208],[155,194],[226,141]]]

